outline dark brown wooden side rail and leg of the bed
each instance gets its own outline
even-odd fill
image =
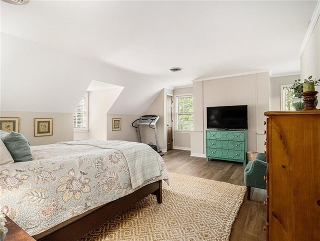
[[[93,212],[77,219],[60,229],[41,237],[40,241],[75,241],[83,237],[85,234],[99,227],[106,221],[112,219],[122,211],[134,205],[139,200],[143,199],[149,194],[156,195],[158,203],[162,202],[162,180],[147,184],[136,191],[123,196],[114,201],[108,202]],[[33,237],[36,238],[36,235]]]

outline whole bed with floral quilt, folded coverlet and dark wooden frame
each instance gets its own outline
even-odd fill
[[[30,161],[1,164],[0,206],[36,240],[77,240],[148,194],[161,203],[168,181],[162,157],[143,143],[78,140],[30,151]]]

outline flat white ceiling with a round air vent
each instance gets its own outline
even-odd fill
[[[1,31],[145,74],[162,87],[271,70],[300,71],[317,1],[1,2]],[[171,67],[182,67],[172,73]]]

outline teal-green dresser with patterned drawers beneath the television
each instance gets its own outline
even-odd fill
[[[206,130],[206,160],[232,160],[246,164],[245,130]]]

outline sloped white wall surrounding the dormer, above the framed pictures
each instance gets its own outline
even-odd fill
[[[124,86],[110,113],[142,114],[163,88],[147,74],[1,32],[1,110],[70,113],[91,80]]]

